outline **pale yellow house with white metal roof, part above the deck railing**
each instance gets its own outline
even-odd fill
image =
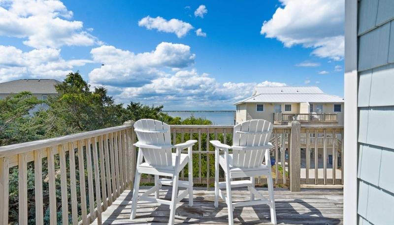
[[[343,125],[344,99],[316,86],[256,86],[252,97],[234,103],[235,124],[265,119],[274,124],[297,120],[311,124]]]

